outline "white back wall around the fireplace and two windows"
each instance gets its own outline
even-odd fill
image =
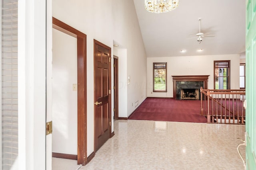
[[[150,57],[147,59],[148,97],[173,97],[172,76],[210,75],[208,88],[213,89],[213,61],[230,60],[230,88],[239,89],[240,55],[207,55],[183,57]],[[153,91],[153,63],[167,62],[167,92]],[[152,93],[151,93],[152,92]]]

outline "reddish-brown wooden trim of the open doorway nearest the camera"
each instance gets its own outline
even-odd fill
[[[87,163],[86,35],[52,17],[52,27],[77,39],[77,163]]]

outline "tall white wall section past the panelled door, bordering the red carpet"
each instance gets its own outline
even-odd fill
[[[146,99],[146,52],[136,16],[136,10],[132,0],[113,0],[114,16],[114,40],[121,47],[127,49],[127,74],[124,86],[127,86],[127,115],[128,117],[135,109],[134,103],[139,105]],[[120,66],[119,70],[123,69]],[[130,76],[130,84],[127,83]],[[122,105],[124,101],[119,102]],[[119,111],[119,114],[122,111]]]

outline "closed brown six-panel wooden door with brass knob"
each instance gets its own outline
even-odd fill
[[[94,40],[94,148],[111,133],[111,48]]]

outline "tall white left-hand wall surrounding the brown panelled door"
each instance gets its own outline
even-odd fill
[[[127,117],[135,109],[132,103],[136,100],[142,102],[146,98],[146,52],[135,7],[133,1],[126,0],[54,0],[52,15],[87,35],[87,156],[89,156],[94,151],[93,39],[111,47],[112,56],[113,40],[127,50],[127,59],[120,60],[119,76],[125,78],[122,81],[126,84],[129,75],[131,84],[127,87],[127,93],[122,96],[127,102],[126,100],[119,102],[119,107],[124,109],[119,110],[120,117]],[[112,120],[113,115],[112,111]]]

